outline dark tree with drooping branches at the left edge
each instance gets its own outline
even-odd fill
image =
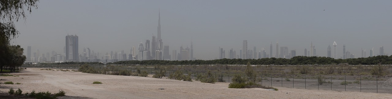
[[[23,60],[15,58],[23,58],[22,56],[13,56],[16,53],[10,53],[9,41],[20,34],[16,30],[14,21],[19,21],[20,18],[26,19],[25,8],[29,14],[31,9],[38,8],[36,4],[38,0],[0,0],[0,68],[4,65],[15,65],[11,60]],[[14,46],[15,47],[15,46]],[[20,46],[19,46],[20,48]],[[15,51],[14,51],[15,52]],[[23,53],[23,49],[22,49]],[[22,62],[23,63],[23,62]]]

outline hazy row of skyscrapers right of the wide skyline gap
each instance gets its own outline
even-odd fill
[[[330,45],[327,47],[327,57],[335,58],[335,59],[347,59],[347,58],[356,58],[355,54],[351,54],[350,51],[346,51],[346,45],[343,44],[343,55],[338,57],[338,44],[336,42],[332,43],[333,48]],[[296,56],[296,49],[290,50],[287,46],[279,46],[279,43],[276,42],[276,54],[272,54],[272,42],[270,43],[270,53],[267,54],[264,48],[261,48],[259,53],[257,54],[256,46],[253,49],[248,49],[248,41],[243,40],[242,49],[240,49],[240,54],[237,55],[236,51],[232,48],[229,51],[229,57],[225,57],[225,50],[219,47],[219,55],[218,59],[222,58],[241,58],[241,59],[258,59],[258,58],[292,58]],[[279,51],[280,48],[280,51]],[[280,52],[280,53],[279,53]],[[367,57],[366,50],[362,49],[361,57]],[[377,55],[388,55],[388,53],[384,53],[384,47],[381,46],[379,48],[379,54]],[[318,57],[316,53],[316,46],[313,45],[313,42],[310,42],[310,48],[305,48],[303,56],[307,57]],[[374,56],[374,48],[370,50],[369,57]]]

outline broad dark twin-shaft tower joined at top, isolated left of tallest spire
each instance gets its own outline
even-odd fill
[[[65,60],[77,62],[79,60],[79,37],[77,35],[65,36]],[[37,53],[38,54],[38,53]]]

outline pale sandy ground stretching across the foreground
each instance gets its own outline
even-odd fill
[[[391,99],[392,94],[370,92],[339,92],[277,87],[279,91],[262,88],[228,88],[229,83],[200,83],[138,76],[87,74],[73,71],[45,71],[27,68],[18,75],[0,76],[1,92],[20,88],[25,92],[67,92],[60,99]],[[92,84],[101,81],[103,84]],[[160,90],[159,88],[164,88]],[[2,98],[2,97],[0,97]]]

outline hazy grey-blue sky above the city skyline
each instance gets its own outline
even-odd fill
[[[379,47],[392,51],[391,0],[41,0],[27,20],[16,23],[21,32],[13,44],[32,46],[32,53],[63,53],[65,36],[79,36],[79,52],[124,50],[157,35],[161,13],[163,44],[170,54],[194,43],[194,57],[218,57],[226,50],[267,49],[270,42],[303,55],[310,42],[317,55],[327,56],[336,41],[338,56],[346,51],[361,57],[361,48],[374,55]],[[325,11],[324,11],[325,10]],[[333,48],[332,48],[333,49]],[[279,50],[280,51],[280,50]],[[279,52],[280,53],[280,52]],[[391,55],[392,53],[390,53]],[[33,56],[33,55],[32,55]]]

